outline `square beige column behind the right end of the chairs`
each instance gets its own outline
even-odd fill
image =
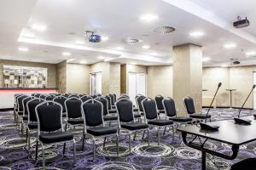
[[[195,110],[201,112],[202,100],[202,49],[194,44],[173,48],[173,98],[179,115],[186,115],[183,98],[194,99]]]

